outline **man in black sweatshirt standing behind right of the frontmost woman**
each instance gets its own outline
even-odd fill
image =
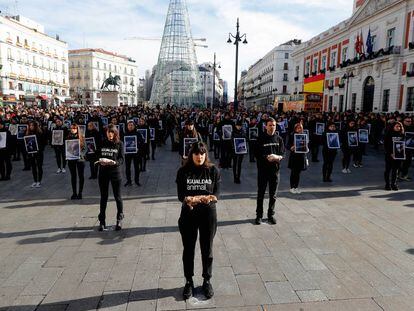
[[[276,135],[276,120],[269,118],[266,122],[266,132],[259,137],[257,153],[257,225],[262,223],[263,201],[267,184],[269,184],[269,209],[267,211],[270,224],[276,224],[275,203],[276,190],[279,182],[280,161],[285,153],[285,146],[280,136]]]

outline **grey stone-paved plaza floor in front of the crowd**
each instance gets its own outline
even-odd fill
[[[332,184],[311,163],[301,195],[289,193],[285,165],[276,226],[253,225],[255,164],[245,158],[241,185],[222,171],[215,296],[202,298],[197,246],[198,294],[185,302],[179,158],[168,146],[157,151],[142,187],[122,189],[121,232],[97,231],[99,190],[89,169],[84,200],[71,201],[69,173],[55,173],[50,149],[40,189],[15,165],[12,181],[0,184],[1,311],[414,309],[414,182],[382,190],[382,153],[369,150],[352,174],[340,172],[338,157]],[[114,225],[113,199],[108,210]]]

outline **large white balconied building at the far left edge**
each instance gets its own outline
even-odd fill
[[[22,16],[0,16],[0,99],[5,103],[65,102],[68,45]]]

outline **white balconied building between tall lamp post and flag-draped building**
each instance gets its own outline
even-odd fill
[[[293,79],[293,62],[290,54],[300,44],[291,40],[273,48],[242,75],[238,84],[238,97],[245,107],[273,105],[275,96],[289,94]]]

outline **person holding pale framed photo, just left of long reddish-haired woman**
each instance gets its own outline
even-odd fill
[[[60,117],[56,117],[54,126],[50,131],[51,145],[55,151],[57,174],[66,173],[65,139],[68,136],[68,128],[63,124]]]

